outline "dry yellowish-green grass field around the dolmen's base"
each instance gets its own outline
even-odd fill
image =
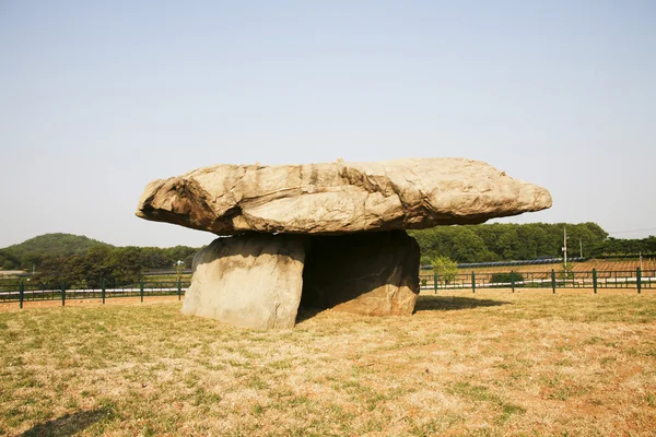
[[[0,434],[655,435],[655,293],[448,292],[268,332],[179,308],[3,305]]]

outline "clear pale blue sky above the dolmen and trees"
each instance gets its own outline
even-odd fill
[[[656,235],[656,2],[0,0],[0,247],[212,235],[134,216],[218,163],[465,156],[504,222]],[[634,231],[642,229],[642,231]]]

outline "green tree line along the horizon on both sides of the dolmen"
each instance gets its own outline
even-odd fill
[[[567,231],[569,256],[584,258],[656,255],[656,237],[623,239],[608,237],[596,223],[531,223],[437,226],[409,232],[421,248],[422,264],[437,257],[457,262],[531,260],[562,257],[563,229]],[[34,280],[44,284],[97,287],[102,281],[130,283],[144,271],[173,269],[179,260],[191,268],[199,248],[176,246],[115,247],[71,234],[46,234],[0,249],[3,270],[35,270]]]

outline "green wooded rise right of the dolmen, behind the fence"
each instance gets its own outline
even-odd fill
[[[422,262],[436,256],[457,262],[530,260],[562,257],[563,229],[571,257],[637,256],[656,253],[656,237],[609,238],[596,223],[531,223],[437,226],[412,231],[421,247]]]

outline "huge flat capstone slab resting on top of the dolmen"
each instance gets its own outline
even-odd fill
[[[551,206],[549,191],[466,158],[221,164],[155,180],[137,215],[218,235],[475,224]]]

